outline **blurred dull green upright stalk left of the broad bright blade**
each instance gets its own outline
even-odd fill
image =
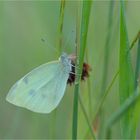
[[[103,96],[105,90],[106,90],[106,85],[107,85],[107,80],[108,80],[108,66],[109,66],[109,58],[110,58],[110,46],[111,46],[111,37],[112,37],[112,25],[113,25],[113,12],[114,12],[114,0],[110,1],[109,3],[109,12],[108,12],[108,27],[107,27],[107,36],[106,36],[106,41],[105,41],[105,47],[104,47],[104,58],[103,58],[103,78],[101,82],[101,91],[100,91],[100,96]],[[98,137],[102,138],[103,130],[104,130],[104,110],[100,108],[100,124],[101,126],[99,127],[99,134]]]

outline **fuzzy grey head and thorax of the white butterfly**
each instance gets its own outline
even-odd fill
[[[65,71],[68,72],[68,73],[70,73],[70,71],[71,71],[71,59],[68,57],[68,55],[66,53],[63,53],[60,56],[59,60],[64,65]]]

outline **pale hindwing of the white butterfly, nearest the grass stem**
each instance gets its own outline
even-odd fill
[[[57,73],[56,77],[38,89],[39,94],[33,95],[27,108],[39,113],[49,113],[55,109],[64,95],[68,76],[63,71]]]

